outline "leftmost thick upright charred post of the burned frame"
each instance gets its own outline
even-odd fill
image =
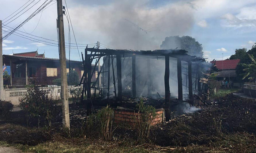
[[[87,55],[87,51],[86,51],[86,55]],[[87,101],[86,101],[86,105],[87,105],[87,114],[91,114],[91,59],[90,56],[87,56],[86,58],[87,62]],[[90,100],[89,100],[90,99]]]

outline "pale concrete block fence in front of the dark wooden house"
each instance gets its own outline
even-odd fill
[[[82,86],[68,86],[68,97],[72,97],[70,94],[70,90],[82,88]],[[51,87],[39,87],[41,90],[45,90],[49,97],[53,99],[60,99],[60,86],[51,86]],[[27,93],[27,88],[12,88],[12,89],[4,89],[4,99],[5,101],[11,101],[11,103],[15,106],[19,105],[19,98]]]

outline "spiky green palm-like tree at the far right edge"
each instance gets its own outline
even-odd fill
[[[248,79],[250,81],[255,81],[255,79],[256,79],[256,60],[253,55],[248,54],[248,56],[251,59],[251,64],[242,64],[242,66],[244,67],[243,71],[245,71],[244,77],[242,79],[245,79],[246,77],[249,76]]]

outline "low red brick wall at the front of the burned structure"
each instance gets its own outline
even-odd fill
[[[157,125],[159,123],[162,123],[164,120],[164,109],[157,109],[156,110],[156,117],[153,118],[153,121],[151,122],[151,125]],[[140,113],[140,116],[143,115],[143,113]],[[137,119],[135,119],[135,116]],[[138,122],[138,111],[136,110],[125,110],[125,109],[115,109],[114,110],[114,122],[116,123],[128,123],[131,126],[135,126],[136,122]]]

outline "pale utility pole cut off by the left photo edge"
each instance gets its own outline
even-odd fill
[[[0,20],[0,99],[4,100],[2,20]]]

